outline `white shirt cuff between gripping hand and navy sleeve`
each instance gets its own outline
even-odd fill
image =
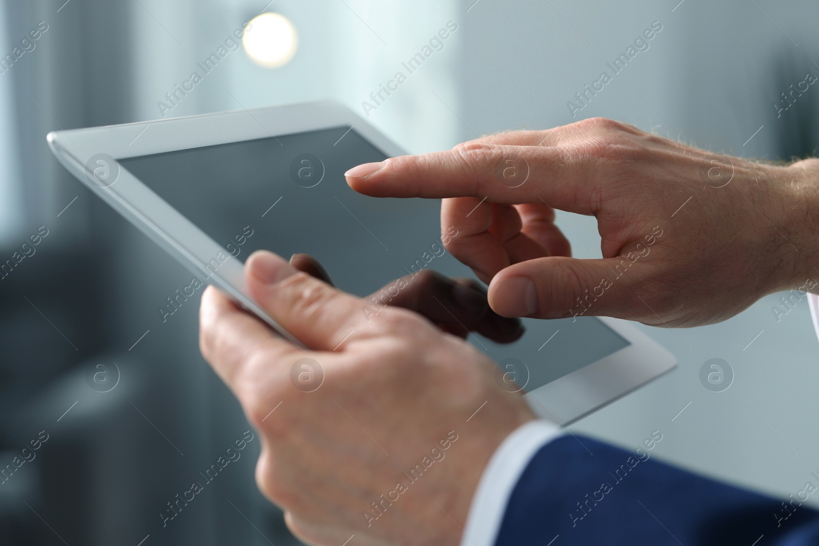
[[[518,426],[498,446],[483,471],[466,520],[461,546],[492,546],[497,539],[514,486],[532,457],[563,435],[553,422],[536,420]]]

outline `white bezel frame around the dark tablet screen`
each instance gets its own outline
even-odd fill
[[[405,153],[372,125],[337,102],[273,106],[55,131],[48,134],[48,144],[57,160],[71,174],[195,273],[197,278],[204,275],[206,282],[228,293],[238,305],[259,316],[279,335],[303,347],[251,299],[239,259],[226,253],[222,246],[128,170],[120,168],[119,177],[113,185],[100,187],[86,175],[85,165],[98,154],[122,160],[342,126],[355,128],[361,137],[387,157]],[[219,259],[218,268],[210,272],[206,264],[219,253],[226,259],[224,262]],[[614,318],[598,319],[625,338],[629,345],[528,392],[527,401],[542,417],[562,425],[568,424],[676,366],[671,353],[630,323]]]

